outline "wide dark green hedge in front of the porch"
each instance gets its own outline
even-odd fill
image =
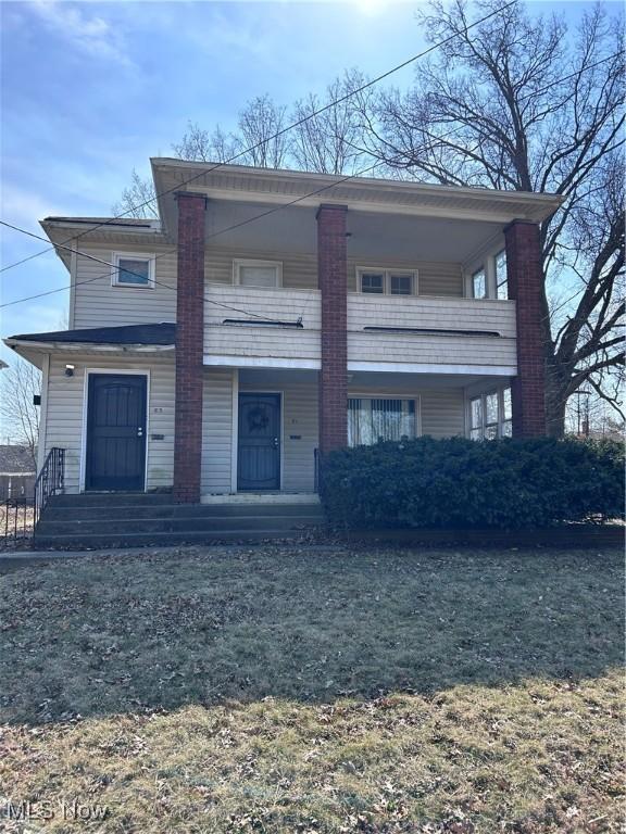
[[[327,517],[350,528],[533,528],[624,510],[615,441],[418,438],[333,452],[321,476]]]

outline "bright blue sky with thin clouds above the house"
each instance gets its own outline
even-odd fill
[[[589,4],[541,2],[574,23]],[[0,0],[1,219],[110,216],[136,168],[173,155],[189,121],[234,127],[263,93],[291,104],[347,68],[384,73],[424,48],[415,2]],[[395,77],[410,84],[412,70]],[[1,264],[46,248],[2,228]],[[64,288],[53,252],[0,275],[0,303]],[[66,326],[66,290],[0,308],[0,334]],[[11,359],[4,345],[0,357]]]

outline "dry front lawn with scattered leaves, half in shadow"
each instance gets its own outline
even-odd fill
[[[622,831],[623,579],[274,547],[0,577],[0,814],[32,804],[0,830]]]

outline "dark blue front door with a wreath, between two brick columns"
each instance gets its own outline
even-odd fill
[[[280,394],[239,394],[238,490],[280,489]]]

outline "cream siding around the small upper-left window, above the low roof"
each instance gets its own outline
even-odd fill
[[[114,252],[133,252],[133,248],[102,249],[82,245],[96,257],[113,262]],[[151,254],[146,249],[137,252]],[[111,273],[104,264],[77,257],[74,302],[74,328],[115,327],[117,325],[155,324],[176,320],[176,254],[163,247],[156,255],[154,287],[112,287]],[[164,254],[166,253],[166,254]]]

